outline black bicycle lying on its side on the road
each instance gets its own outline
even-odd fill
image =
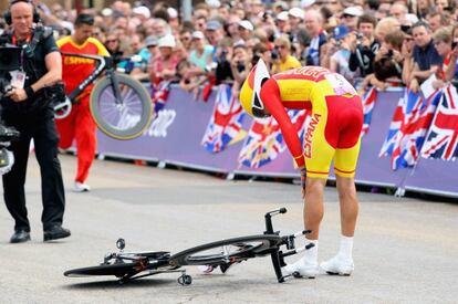
[[[296,249],[294,240],[296,237],[310,233],[302,230],[294,234],[280,235],[280,231],[273,231],[272,217],[285,213],[281,208],[264,214],[266,231],[263,234],[246,235],[226,239],[194,247],[176,254],[168,251],[156,252],[124,252],[125,241],[117,240],[116,247],[119,252],[107,253],[102,264],[97,266],[81,268],[64,272],[65,276],[91,276],[114,275],[119,283],[125,283],[139,277],[159,273],[178,272],[178,283],[189,285],[192,282],[186,270],[186,265],[205,265],[211,269],[219,268],[225,273],[231,265],[260,256],[271,256],[272,265],[279,283],[284,282],[288,276],[283,275],[281,268],[285,265],[284,258],[309,250],[313,243]],[[299,273],[292,276],[300,276]]]

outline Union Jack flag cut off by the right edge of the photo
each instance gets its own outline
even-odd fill
[[[458,156],[458,94],[454,85],[444,90],[421,156],[444,160],[455,160]]]

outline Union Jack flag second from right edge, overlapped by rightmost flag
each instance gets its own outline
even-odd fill
[[[441,97],[436,91],[428,98],[406,88],[393,115],[379,156],[392,156],[392,169],[414,166]]]

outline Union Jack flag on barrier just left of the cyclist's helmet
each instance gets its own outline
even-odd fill
[[[218,87],[214,114],[207,125],[201,145],[210,153],[223,150],[242,132],[244,112],[232,88],[227,84]]]

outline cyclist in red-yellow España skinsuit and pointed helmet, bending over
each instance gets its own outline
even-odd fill
[[[243,108],[254,117],[272,115],[284,140],[301,168],[304,197],[304,226],[314,247],[284,272],[314,277],[319,272],[318,240],[323,218],[323,192],[334,159],[341,206],[341,248],[321,268],[327,273],[348,275],[353,272],[353,235],[358,201],[354,184],[363,108],[355,88],[340,74],[320,66],[303,66],[270,77],[266,64],[251,70],[240,91]],[[287,113],[287,108],[311,111],[304,144]],[[306,179],[305,179],[306,176]]]

